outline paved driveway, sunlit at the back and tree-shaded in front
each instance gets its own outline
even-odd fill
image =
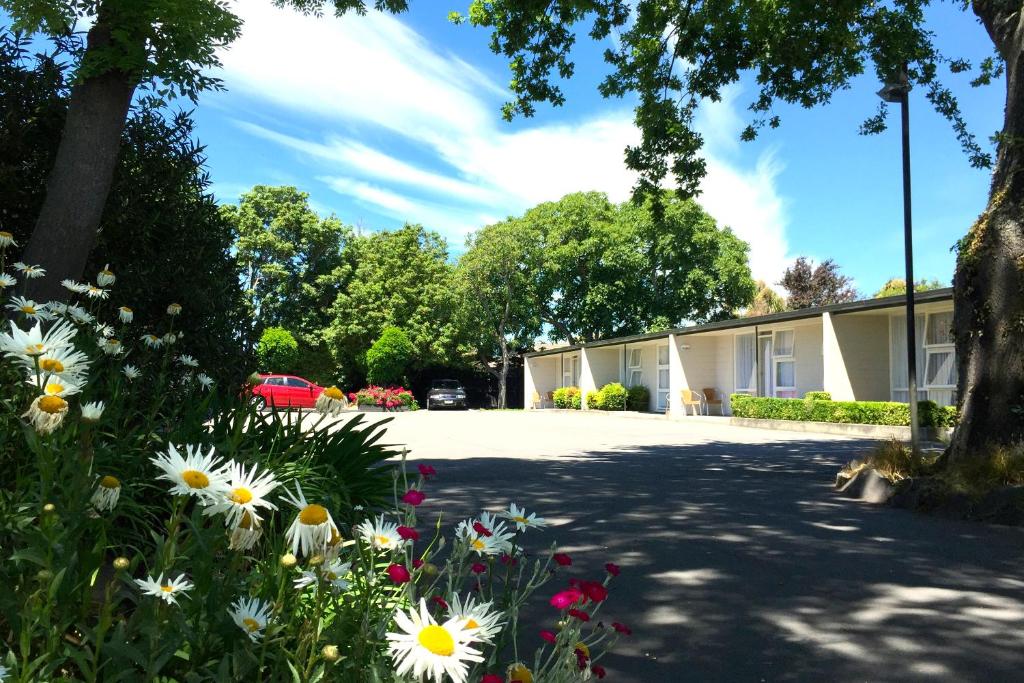
[[[864,441],[552,412],[403,414],[385,440],[437,468],[426,518],[515,501],[568,575],[623,566],[608,680],[1024,678],[1024,532],[836,497]]]

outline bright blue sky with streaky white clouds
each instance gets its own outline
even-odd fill
[[[507,67],[487,34],[449,24],[436,0],[412,6],[398,17],[337,18],[236,4],[246,26],[222,55],[227,90],[205,94],[196,111],[221,201],[257,183],[294,184],[347,223],[421,222],[458,253],[472,229],[569,191],[628,198],[623,148],[637,131],[632,103],[595,89],[604,45],[581,44],[565,106],[509,124],[500,116]],[[947,52],[975,62],[990,53],[972,15],[940,3],[929,20]],[[967,80],[950,85],[987,138],[1001,123],[1002,89]],[[710,173],[699,201],[751,244],[756,276],[777,282],[798,255],[836,259],[866,294],[901,275],[898,129],[857,133],[878,88],[865,76],[826,108],[782,108],[782,127],[754,143],[738,140],[751,88],[702,112]],[[948,282],[950,247],[984,207],[988,173],[969,167],[922,92],[910,106],[915,269]]]

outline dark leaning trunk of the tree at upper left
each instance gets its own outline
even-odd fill
[[[83,63],[89,62],[90,51],[109,42],[110,28],[94,25]],[[46,268],[46,278],[29,281],[34,298],[61,298],[67,292],[60,281],[78,280],[85,270],[117,168],[135,85],[131,74],[111,70],[88,76],[72,88],[46,199],[23,256],[27,263]]]

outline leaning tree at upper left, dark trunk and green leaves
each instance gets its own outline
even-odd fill
[[[319,11],[326,0],[275,0]],[[337,14],[366,11],[362,0],[333,0]],[[406,0],[376,0],[377,9],[404,11]],[[81,276],[102,216],[121,150],[129,106],[140,86],[159,97],[219,88],[209,76],[217,50],[240,33],[224,0],[0,0],[15,31],[66,39],[75,23],[91,23],[46,196],[24,258],[50,278],[35,281],[37,298],[58,298],[60,281]]]

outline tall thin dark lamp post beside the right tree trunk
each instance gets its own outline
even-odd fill
[[[913,228],[910,218],[910,83],[904,67],[895,83],[886,83],[879,97],[899,102],[903,137],[903,255],[906,261],[906,370],[910,403],[910,447],[921,446],[918,423],[918,340],[913,311]]]

